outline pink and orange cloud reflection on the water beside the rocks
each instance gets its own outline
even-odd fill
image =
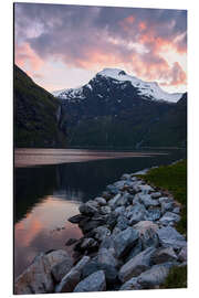
[[[18,276],[40,252],[63,248],[71,238],[80,238],[81,231],[67,219],[77,213],[78,204],[46,196],[34,205],[14,226],[14,276]]]

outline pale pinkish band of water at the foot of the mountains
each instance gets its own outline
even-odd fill
[[[144,158],[167,155],[165,152],[137,152],[114,150],[87,150],[87,149],[39,149],[18,148],[14,149],[14,167],[24,168],[44,164],[59,164],[71,162],[86,162],[93,160]]]

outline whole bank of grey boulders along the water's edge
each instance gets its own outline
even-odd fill
[[[180,204],[136,173],[78,210],[69,221],[84,236],[66,243],[74,259],[62,249],[40,254],[15,280],[14,294],[154,289],[171,267],[187,265],[187,242],[175,228]]]

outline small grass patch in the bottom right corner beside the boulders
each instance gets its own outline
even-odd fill
[[[172,267],[161,289],[187,288],[187,266]]]

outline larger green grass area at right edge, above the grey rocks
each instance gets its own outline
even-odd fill
[[[181,220],[176,228],[179,233],[187,235],[187,160],[151,169],[142,178],[154,187],[169,191],[180,203]]]

